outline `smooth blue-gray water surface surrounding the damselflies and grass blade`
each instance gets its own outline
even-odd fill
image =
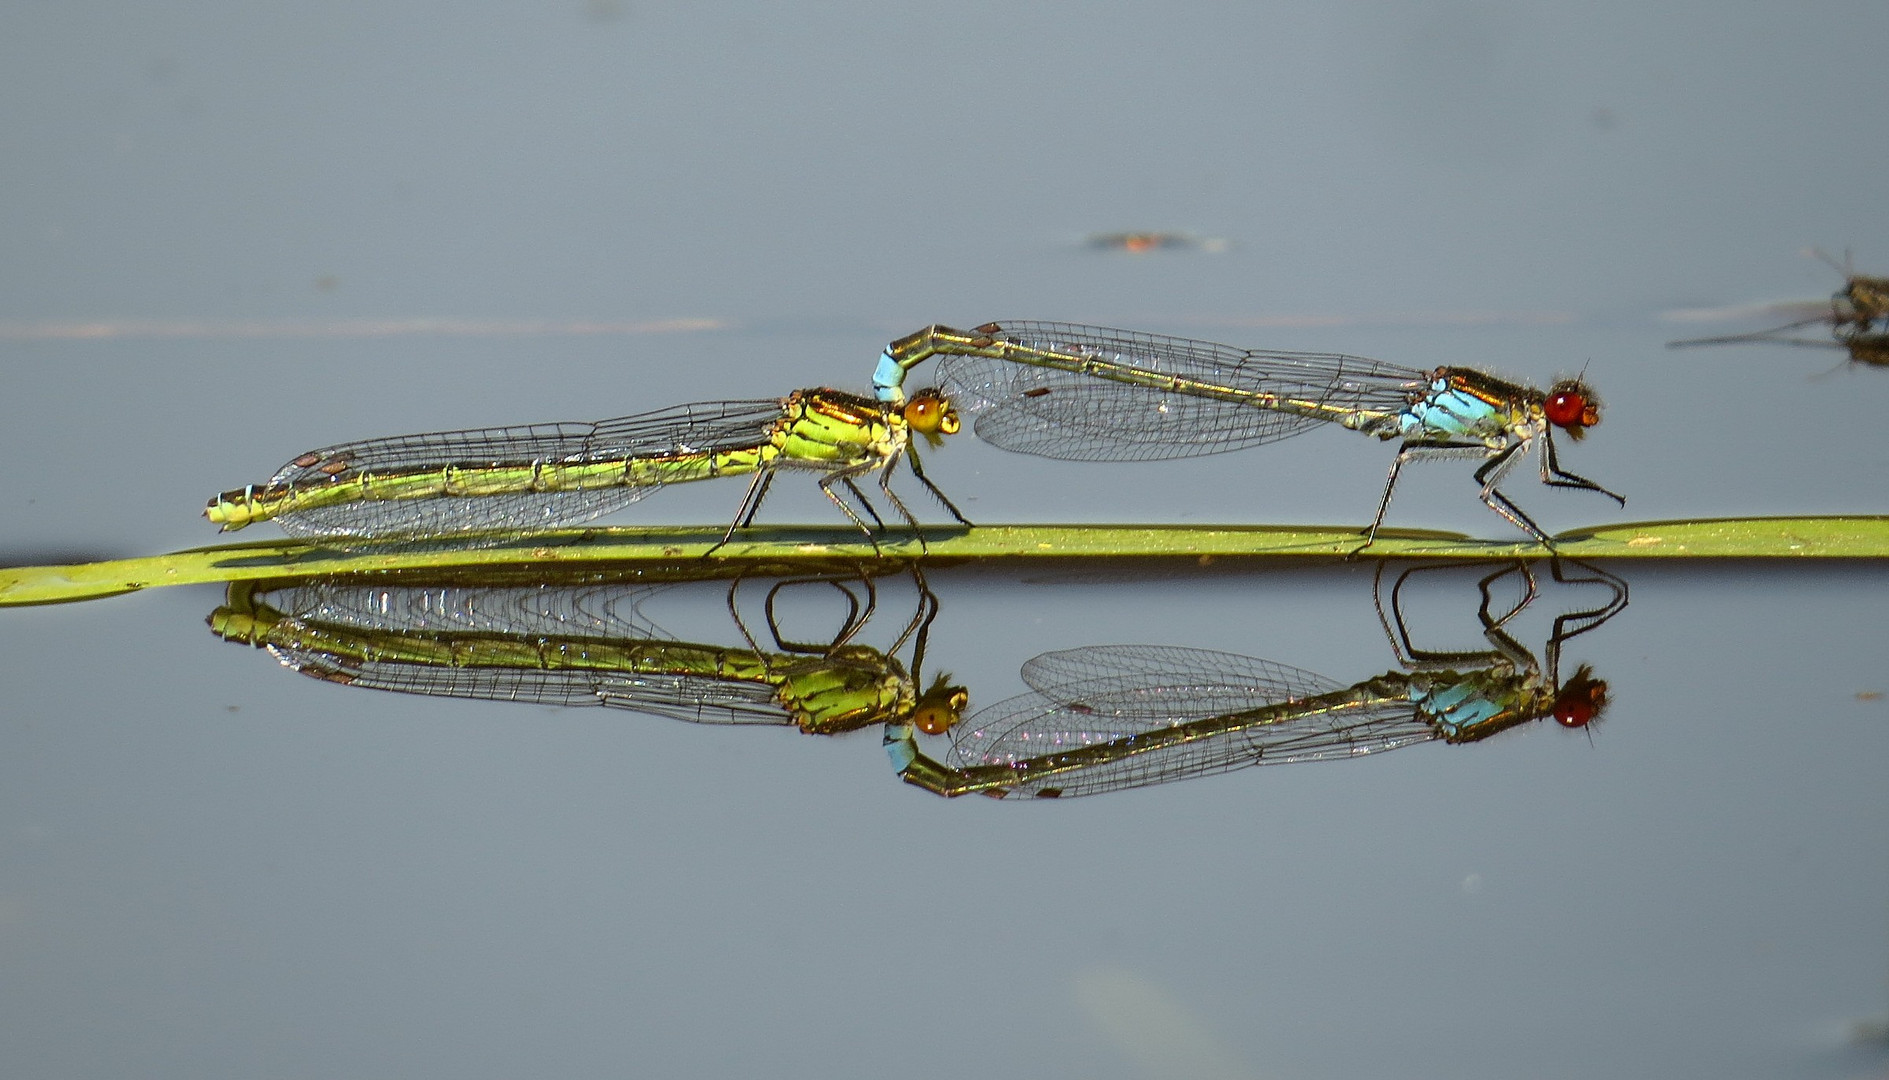
[[[310,446],[863,389],[888,338],[994,317],[1587,368],[1606,421],[1564,464],[1630,502],[1517,480],[1551,531],[1885,512],[1883,372],[1660,321],[1830,293],[1808,245],[1889,270],[1885,40],[1880,4],[15,4],[0,542],[204,544],[206,497]],[[1081,244],[1130,228],[1230,249]],[[1360,523],[1385,464],[1336,430],[929,457],[979,521]],[[1466,472],[1415,470],[1392,523],[1506,538]],[[1591,744],[1052,806],[933,801],[867,734],[319,685],[202,631],[213,589],[6,612],[0,1059],[1881,1074],[1883,572],[1630,578],[1572,650],[1615,689]],[[1079,644],[1390,667],[1366,568],[935,583],[980,702]]]

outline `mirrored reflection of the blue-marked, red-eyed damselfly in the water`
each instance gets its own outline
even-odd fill
[[[1043,653],[1024,665],[1020,697],[992,704],[952,729],[946,763],[922,753],[912,727],[886,725],[886,750],[909,784],[939,795],[1054,799],[1145,787],[1249,765],[1334,761],[1415,742],[1481,742],[1536,719],[1587,727],[1608,702],[1608,683],[1579,667],[1560,678],[1560,650],[1626,606],[1626,583],[1577,565],[1557,582],[1600,585],[1596,608],[1557,616],[1545,665],[1507,625],[1538,597],[1524,563],[1479,582],[1481,651],[1432,651],[1411,642],[1404,570],[1377,608],[1404,670],[1341,685],[1324,676],[1232,653],[1171,646],[1094,646]],[[1381,572],[1379,572],[1381,574]],[[1494,614],[1492,583],[1519,574],[1519,602]],[[1381,576],[1379,576],[1381,585]]]

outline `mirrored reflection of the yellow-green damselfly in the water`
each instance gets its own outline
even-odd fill
[[[701,563],[691,566],[680,568],[682,582],[710,580]],[[266,648],[306,676],[355,687],[793,725],[808,734],[876,723],[943,733],[963,710],[965,691],[943,676],[920,685],[937,599],[916,568],[910,574],[916,608],[882,650],[858,640],[878,606],[876,583],[858,570],[722,574],[739,644],[676,640],[644,614],[671,585],[610,582],[234,583],[210,627],[225,640]],[[782,606],[807,600],[803,589],[833,589],[844,600],[829,636],[803,642],[784,629]],[[756,593],[765,646],[742,612],[744,595]],[[910,667],[899,659],[907,646]]]

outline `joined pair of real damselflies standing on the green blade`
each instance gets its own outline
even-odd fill
[[[905,376],[937,357],[937,387],[907,395]],[[884,519],[858,487],[876,476],[893,512],[918,519],[892,491],[899,459],[956,517],[963,514],[920,464],[975,417],[979,438],[1020,453],[1075,461],[1160,461],[1224,453],[1302,434],[1320,423],[1400,440],[1375,540],[1409,461],[1479,457],[1481,500],[1534,540],[1541,531],[1498,485],[1540,453],[1541,481],[1625,498],[1560,468],[1555,430],[1579,440],[1600,423],[1581,380],[1547,393],[1472,368],[1404,368],[1337,353],[1235,349],[1211,342],[1082,327],[984,323],[929,327],[880,357],[875,397],[803,389],[774,400],[697,402],[597,423],[542,423],[376,438],[315,449],[268,483],[225,491],[204,514],[225,531],[274,519],[298,536],[344,540],[527,536],[582,525],[652,491],[748,476],[723,542],[752,523],[780,470],[818,476],[820,489],[875,549],[867,517]],[[846,497],[852,497],[848,502]],[[858,508],[856,508],[858,506]],[[863,515],[861,515],[863,512]]]

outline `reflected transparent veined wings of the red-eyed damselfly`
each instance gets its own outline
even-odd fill
[[[954,767],[1018,768],[1007,797],[1094,795],[1436,738],[1409,700],[1347,695],[1324,676],[1232,653],[1069,650],[1030,661],[1024,678],[1039,689],[984,708],[952,733]],[[1226,723],[1234,714],[1249,716]]]

